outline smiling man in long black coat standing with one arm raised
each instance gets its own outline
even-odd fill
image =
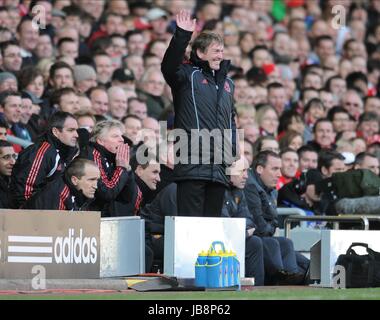
[[[196,21],[181,11],[176,22],[161,70],[172,89],[174,132],[180,137],[176,143],[181,146],[180,161],[174,167],[178,215],[220,216],[229,183],[226,167],[236,150],[234,84],[227,77],[230,61],[223,60],[223,39],[204,32],[193,42],[190,61],[183,62]]]

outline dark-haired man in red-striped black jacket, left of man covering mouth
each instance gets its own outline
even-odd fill
[[[39,143],[23,150],[11,179],[11,207],[22,207],[35,192],[63,172],[76,155],[78,123],[73,115],[58,111],[49,119],[49,127]]]

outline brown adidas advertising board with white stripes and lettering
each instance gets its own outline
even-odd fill
[[[0,210],[0,278],[99,278],[100,212]]]

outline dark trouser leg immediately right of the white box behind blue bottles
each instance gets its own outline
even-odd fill
[[[245,276],[254,277],[256,286],[264,285],[263,242],[257,236],[245,240]]]

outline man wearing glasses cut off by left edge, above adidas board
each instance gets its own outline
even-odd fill
[[[9,182],[16,159],[12,145],[0,140],[0,208],[9,208]]]

